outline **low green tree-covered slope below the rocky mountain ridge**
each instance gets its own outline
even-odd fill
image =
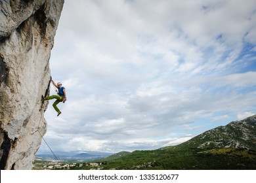
[[[237,148],[217,150],[135,151],[111,161],[102,161],[102,169],[256,169],[256,152]]]

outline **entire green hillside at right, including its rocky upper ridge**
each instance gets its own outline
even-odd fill
[[[255,130],[251,116],[177,146],[120,152],[98,160],[98,169],[256,169]]]

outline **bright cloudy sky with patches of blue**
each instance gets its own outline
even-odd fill
[[[256,1],[65,0],[50,68],[54,152],[181,144],[256,113]]]

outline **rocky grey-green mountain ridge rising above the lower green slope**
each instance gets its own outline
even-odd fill
[[[182,144],[198,148],[245,148],[256,150],[256,115],[215,127]]]

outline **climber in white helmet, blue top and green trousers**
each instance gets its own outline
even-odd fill
[[[67,100],[67,95],[66,95],[66,89],[62,86],[61,82],[58,82],[57,84],[53,82],[53,85],[58,88],[58,95],[51,95],[49,97],[43,97],[43,100],[51,100],[51,99],[56,99],[56,101],[53,103],[53,108],[58,112],[57,116],[61,114],[60,110],[58,109],[57,105],[58,103],[62,102],[63,103]]]

